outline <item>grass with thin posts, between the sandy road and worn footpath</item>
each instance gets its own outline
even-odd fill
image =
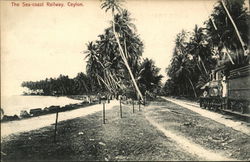
[[[138,105],[135,114],[123,105],[122,119],[115,106],[106,118],[102,124],[98,112],[59,122],[56,143],[54,126],[11,135],[1,141],[2,160],[197,160],[151,126]]]

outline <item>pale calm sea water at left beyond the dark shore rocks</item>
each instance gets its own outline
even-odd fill
[[[21,110],[33,108],[45,108],[49,106],[64,106],[68,104],[80,103],[81,100],[74,100],[68,97],[54,96],[1,96],[1,108],[4,115],[20,115]]]

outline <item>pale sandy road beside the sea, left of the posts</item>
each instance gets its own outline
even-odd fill
[[[112,100],[109,104],[106,105],[106,109],[111,109],[114,105],[118,105],[119,102]],[[73,119],[77,117],[83,117],[89,114],[93,114],[98,111],[102,111],[103,105],[92,105],[76,110],[60,112],[58,114],[58,122]],[[4,138],[13,133],[27,132],[34,129],[39,129],[55,123],[56,114],[42,115],[38,117],[33,117],[29,119],[11,121],[1,123],[1,138]]]

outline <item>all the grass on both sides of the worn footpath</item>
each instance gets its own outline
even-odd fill
[[[97,105],[102,106],[102,105]],[[107,105],[108,106],[108,105]],[[57,142],[54,126],[10,135],[1,141],[3,161],[9,160],[199,160],[181,150],[176,143],[156,130],[145,119],[150,116],[166,129],[193,142],[239,160],[250,160],[250,136],[171,102],[151,102],[141,105],[135,113],[132,106],[123,105],[106,111],[58,123]]]

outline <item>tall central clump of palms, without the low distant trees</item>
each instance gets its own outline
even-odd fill
[[[102,3],[102,8],[111,10],[113,20],[98,40],[87,44],[87,74],[91,83],[110,93],[143,99],[142,94],[159,87],[162,76],[152,60],[142,61],[143,43],[130,13],[120,6],[118,0]]]

